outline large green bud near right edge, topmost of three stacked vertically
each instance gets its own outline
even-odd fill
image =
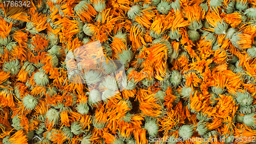
[[[250,96],[248,92],[245,92],[245,93],[237,92],[236,100],[241,106],[246,106],[246,105],[252,104],[253,97]]]

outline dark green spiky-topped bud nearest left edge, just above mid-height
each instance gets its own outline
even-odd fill
[[[11,72],[11,75],[16,75],[18,74],[20,69],[20,63],[18,60],[12,60],[10,62],[7,62],[4,64],[3,71],[4,72]]]

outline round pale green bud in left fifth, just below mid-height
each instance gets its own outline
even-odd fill
[[[34,80],[37,85],[45,86],[49,83],[49,77],[43,69],[39,69],[39,72],[34,74]]]

